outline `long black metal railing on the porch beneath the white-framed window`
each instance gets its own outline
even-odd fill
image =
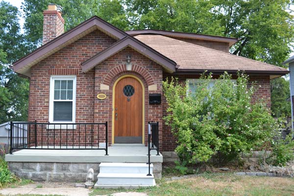
[[[10,122],[10,151],[17,149],[98,149],[108,155],[105,123]],[[105,147],[101,147],[105,142]],[[100,146],[99,146],[100,145]]]

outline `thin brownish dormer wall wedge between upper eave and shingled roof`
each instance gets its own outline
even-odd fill
[[[184,42],[188,42],[191,44],[196,44],[199,46],[204,46],[206,48],[210,48],[210,49],[216,49],[216,50],[220,50],[223,52],[229,52],[229,44],[228,43],[224,43],[224,42],[213,42],[213,41],[206,41],[206,40],[197,40],[197,39],[188,39],[188,38],[176,38],[176,37],[172,37],[173,39],[177,39],[177,40],[181,40]]]

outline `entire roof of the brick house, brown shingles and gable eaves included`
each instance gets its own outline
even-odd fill
[[[224,71],[236,73],[238,70],[245,70],[246,73],[270,74],[271,78],[289,73],[289,71],[281,67],[221,52],[219,50],[201,47],[172,39],[171,37],[220,41],[231,44],[237,41],[235,38],[162,30],[123,32],[97,16],[77,25],[14,62],[13,69],[17,73],[30,76],[30,68],[33,65],[97,29],[116,39],[117,42],[83,62],[82,66],[84,72],[92,69],[95,65],[121,49],[131,47],[160,64],[168,73],[176,72],[189,74],[200,73],[205,70],[214,73],[223,73]],[[136,36],[132,37],[133,35]]]

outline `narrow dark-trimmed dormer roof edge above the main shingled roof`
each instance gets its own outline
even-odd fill
[[[202,35],[202,34],[196,34],[196,33],[184,33],[184,32],[177,32],[177,31],[153,30],[153,29],[130,30],[125,32],[131,36],[136,36],[141,34],[156,34],[156,35],[163,35],[163,36],[176,37],[176,38],[188,38],[188,39],[197,39],[197,40],[208,40],[208,41],[214,41],[214,42],[224,42],[224,43],[228,43],[229,47],[233,46],[238,41],[237,38],[230,38],[230,37]]]

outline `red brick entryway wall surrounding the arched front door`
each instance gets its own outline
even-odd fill
[[[125,66],[126,55],[131,55],[132,70],[127,71]],[[126,48],[117,54],[106,59],[96,66],[95,84],[97,93],[105,93],[108,98],[104,100],[95,99],[95,120],[96,122],[109,122],[109,137],[111,143],[112,131],[112,92],[115,81],[125,75],[132,74],[140,78],[145,87],[145,144],[147,144],[147,123],[148,121],[159,122],[159,140],[162,137],[162,104],[149,105],[148,93],[162,94],[162,67],[151,61],[137,51]],[[108,85],[109,90],[100,90],[100,84]],[[156,91],[148,91],[148,86],[156,84]],[[160,147],[161,147],[160,142]]]

